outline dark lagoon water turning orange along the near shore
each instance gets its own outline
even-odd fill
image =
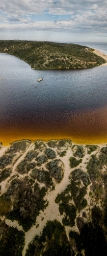
[[[101,45],[103,52],[105,45]],[[0,141],[4,145],[26,138],[107,143],[107,66],[39,71],[3,53],[0,62]],[[38,78],[43,80],[37,82]]]

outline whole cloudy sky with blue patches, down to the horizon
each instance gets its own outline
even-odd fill
[[[107,41],[107,0],[1,0],[0,39]]]

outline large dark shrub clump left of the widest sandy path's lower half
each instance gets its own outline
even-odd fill
[[[46,201],[43,199],[46,191],[45,187],[40,189],[37,183],[34,184],[33,191],[27,177],[23,181],[12,180],[7,193],[4,195],[4,198],[8,200],[13,193],[15,196],[13,209],[7,214],[7,218],[12,221],[18,220],[23,229],[28,231],[35,224],[39,211],[46,207]]]

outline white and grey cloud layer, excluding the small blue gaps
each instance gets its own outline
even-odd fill
[[[1,0],[0,28],[106,33],[106,4],[106,0]],[[42,17],[36,21],[31,15],[43,13],[51,14],[53,20],[43,20]],[[55,15],[58,15],[57,20],[54,20]],[[71,18],[62,15],[70,15]]]

